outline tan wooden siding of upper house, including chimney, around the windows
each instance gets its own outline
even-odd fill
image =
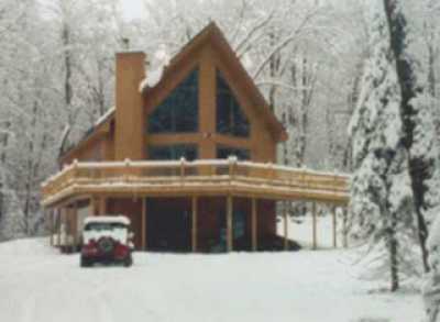
[[[118,56],[117,113],[110,123],[107,135],[91,140],[64,159],[65,164],[78,160],[123,160],[147,159],[148,145],[167,145],[190,143],[197,144],[199,158],[212,159],[217,156],[217,146],[246,148],[255,162],[276,160],[276,142],[267,123],[251,97],[246,95],[240,75],[228,68],[228,62],[219,55],[213,46],[204,46],[197,55],[182,60],[178,68],[166,75],[144,98],[140,97],[139,82],[143,70],[133,71],[128,66],[140,66],[143,55],[130,53]],[[139,67],[140,68],[140,67]],[[138,68],[138,69],[139,69]],[[197,133],[146,134],[146,118],[154,111],[185,77],[199,68],[199,131]],[[240,102],[251,125],[250,137],[234,137],[217,133],[216,129],[216,73],[221,70],[231,90]],[[124,86],[122,86],[124,85]],[[118,88],[121,86],[121,88]],[[143,100],[140,102],[140,100]],[[142,108],[139,106],[143,106]],[[116,125],[114,125],[116,123]]]

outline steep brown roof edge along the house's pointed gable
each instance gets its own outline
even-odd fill
[[[241,84],[243,84],[244,89],[251,97],[253,106],[260,110],[264,121],[268,125],[274,140],[276,142],[282,142],[287,140],[287,133],[283,124],[276,119],[275,114],[271,110],[267,101],[260,92],[258,88],[254,84],[251,76],[248,74],[246,69],[241,64],[239,57],[235,55],[234,51],[229,45],[221,30],[217,26],[215,22],[209,23],[204,30],[201,30],[191,41],[189,41],[170,60],[166,66],[161,80],[154,87],[144,87],[142,93],[144,96],[148,95],[155,88],[160,87],[162,82],[167,81],[167,75],[172,75],[173,71],[179,68],[188,56],[195,55],[195,53],[201,49],[204,46],[212,45],[219,55],[221,55],[231,70],[240,78]],[[67,156],[74,149],[86,144],[89,140],[99,136],[101,127],[107,129],[110,122],[114,120],[114,108],[109,110],[101,119],[95,124],[95,126],[87,132],[87,135],[77,143],[73,148],[66,151],[62,158]]]

